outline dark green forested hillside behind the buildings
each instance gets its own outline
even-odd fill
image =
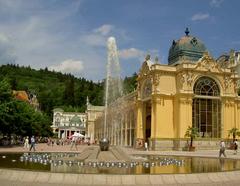
[[[136,77],[124,79],[124,94],[136,88]],[[52,114],[55,107],[61,107],[65,111],[84,112],[86,98],[91,104],[103,105],[104,81],[95,83],[84,78],[76,78],[71,74],[41,70],[30,67],[20,67],[8,64],[0,66],[0,80],[7,78],[12,90],[25,90],[36,94],[40,109]]]

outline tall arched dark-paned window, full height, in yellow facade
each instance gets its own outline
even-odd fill
[[[194,87],[192,123],[200,137],[221,137],[221,101],[218,84],[209,77],[199,78]]]

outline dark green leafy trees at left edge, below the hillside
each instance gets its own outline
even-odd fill
[[[12,92],[10,85],[5,81],[0,81],[0,94],[7,95]],[[11,136],[50,136],[51,119],[24,101],[16,100],[8,95],[8,98],[0,102],[0,133]]]

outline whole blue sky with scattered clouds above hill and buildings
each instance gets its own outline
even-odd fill
[[[101,81],[113,36],[121,76],[131,76],[147,54],[167,64],[186,27],[217,58],[240,50],[239,7],[239,0],[0,0],[0,65]]]

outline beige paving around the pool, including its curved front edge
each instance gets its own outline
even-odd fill
[[[78,150],[70,150],[70,146],[47,146],[38,144],[37,152],[82,152],[87,145],[78,146]],[[122,148],[127,154],[182,155],[218,157],[218,150],[186,151],[143,151]],[[0,152],[24,152],[23,147],[0,148]],[[240,159],[227,150],[227,158]],[[103,157],[104,158],[104,157]],[[63,186],[63,185],[168,185],[168,186],[219,186],[240,185],[240,171],[194,174],[160,174],[160,175],[112,175],[112,174],[70,174],[36,171],[20,171],[0,169],[1,186]]]

